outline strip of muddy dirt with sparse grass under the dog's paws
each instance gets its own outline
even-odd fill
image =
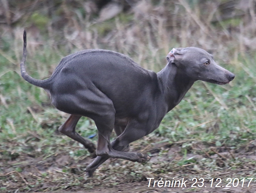
[[[136,145],[131,147],[132,151],[136,149]],[[151,152],[148,163],[109,159],[90,178],[85,175],[85,168],[92,159],[81,156],[79,160],[75,160],[65,149],[48,157],[36,157],[36,152],[31,152],[20,153],[18,157],[13,156],[13,159],[7,160],[2,154],[0,184],[6,189],[1,189],[0,192],[256,192],[254,148],[251,148],[250,152],[247,152],[245,147],[236,152],[228,152],[227,148],[219,147],[211,152],[188,153],[186,160],[194,161],[179,164],[184,161],[181,145],[182,143],[160,143],[154,147],[142,146],[140,149]],[[160,150],[166,153],[161,155]],[[235,159],[232,156],[235,156]],[[154,178],[150,187],[147,178]],[[196,179],[193,178],[198,180],[197,183],[194,183]],[[212,178],[214,179],[211,185]],[[220,184],[220,179],[217,178],[222,180]],[[228,178],[232,180],[230,184]],[[237,179],[234,181],[235,178]],[[243,178],[245,181],[242,187]],[[247,178],[253,178],[249,187],[250,179]],[[158,184],[161,179],[163,183]],[[182,183],[182,179],[187,180],[186,187],[184,184],[182,187],[178,186],[178,182],[175,187],[171,187],[172,180],[180,180]],[[158,180],[155,186],[154,180]],[[164,187],[166,180],[170,180],[170,187],[169,182]]]

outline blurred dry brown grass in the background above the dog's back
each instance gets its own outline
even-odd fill
[[[14,40],[11,49],[16,60],[6,58],[18,68],[24,27],[32,56],[42,45],[60,57],[103,48],[130,55],[143,67],[156,71],[166,63],[165,56],[172,47],[201,47],[223,62],[256,49],[253,0],[118,2],[126,11],[102,21],[104,7],[97,9],[94,1],[10,1],[8,8],[1,8],[6,23],[1,23],[0,31],[1,38]],[[46,74],[52,71],[38,68]]]

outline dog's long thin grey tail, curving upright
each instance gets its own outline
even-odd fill
[[[26,72],[25,64],[24,64],[26,61],[26,55],[27,55],[27,48],[26,48],[27,47],[27,33],[26,33],[26,30],[24,30],[24,33],[23,33],[23,41],[24,41],[23,56],[22,56],[22,61],[20,63],[21,76],[24,78],[24,80],[28,81],[32,85],[36,85],[41,88],[48,89],[49,88],[49,79],[36,80],[36,79],[32,78],[30,75],[28,75],[28,73]]]

